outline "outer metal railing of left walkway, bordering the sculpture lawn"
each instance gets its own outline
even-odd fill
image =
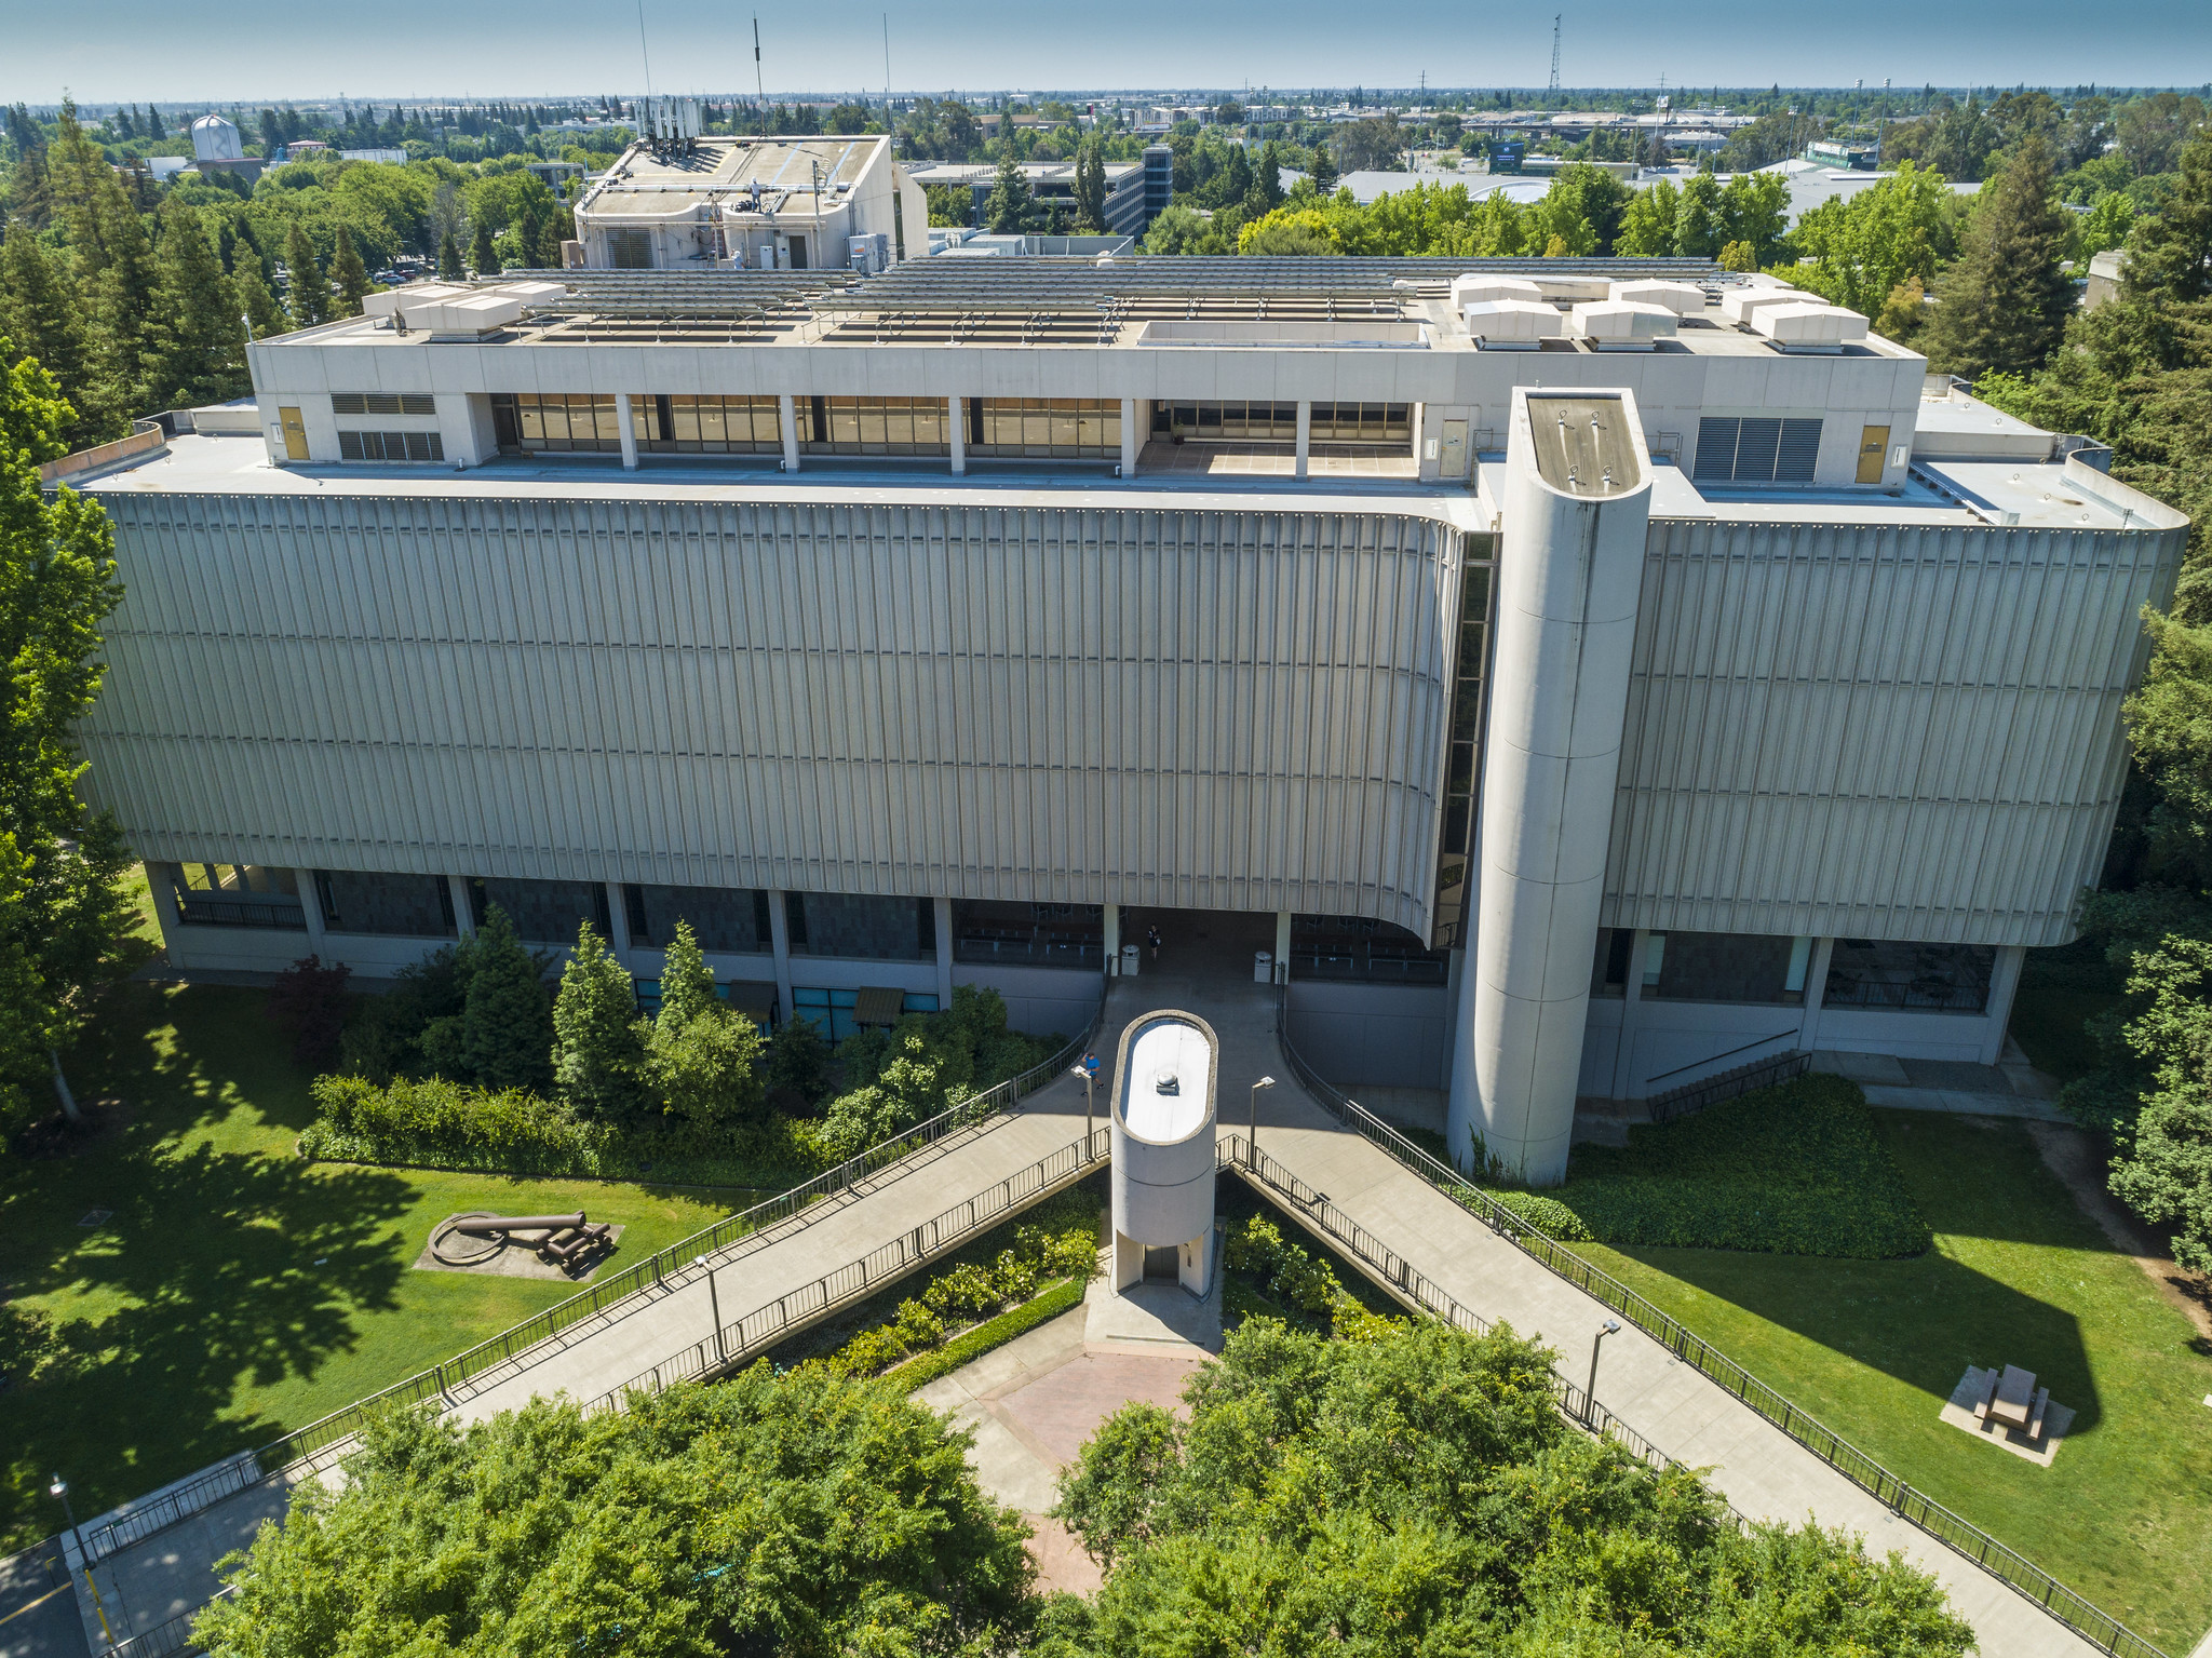
[[[1042,1066],[1033,1066],[1020,1077],[1011,1077],[995,1088],[987,1088],[984,1092],[960,1101],[951,1110],[938,1112],[927,1123],[916,1123],[883,1145],[872,1145],[858,1156],[838,1163],[834,1169],[816,1174],[812,1180],[805,1180],[790,1192],[768,1198],[765,1203],[757,1203],[741,1214],[728,1216],[726,1220],[717,1220],[712,1227],[695,1231],[690,1238],[661,1249],[657,1256],[650,1256],[648,1260],[641,1260],[635,1267],[619,1271],[484,1342],[478,1342],[445,1364],[409,1375],[403,1382],[394,1382],[389,1388],[380,1388],[365,1399],[356,1399],[343,1410],[334,1410],[319,1421],[310,1421],[305,1428],[288,1433],[283,1439],[261,1446],[252,1452],[250,1468],[241,1470],[239,1461],[223,1463],[204,1479],[177,1486],[155,1501],[133,1508],[128,1514],[119,1514],[102,1525],[84,1528],[86,1563],[104,1561],[111,1554],[117,1554],[119,1550],[126,1550],[133,1543],[139,1543],[155,1532],[210,1508],[246,1486],[330,1466],[338,1455],[343,1455],[352,1437],[374,1410],[427,1404],[431,1399],[449,1404],[456,1388],[482,1382],[491,1371],[522,1360],[522,1355],[538,1342],[575,1329],[588,1318],[608,1313],[630,1295],[681,1289],[706,1271],[701,1256],[730,1249],[739,1242],[745,1245],[739,1253],[748,1253],[750,1249],[772,1242],[774,1236],[781,1236],[781,1227],[794,1220],[803,1225],[803,1214],[814,1203],[852,1192],[900,1158],[975,1127],[978,1123],[1009,1110],[1022,1096],[1037,1092],[1053,1081],[1053,1077],[1073,1066],[1075,1059],[1091,1048],[1095,1035],[1097,1017],[1093,1015],[1084,1035],[1046,1059]],[[719,1267],[726,1262],[714,1265]]]

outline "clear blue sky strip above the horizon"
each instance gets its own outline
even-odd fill
[[[2205,0],[1652,4],[1559,0],[1568,86],[1936,82],[2194,86],[2212,80]],[[880,91],[883,0],[761,11],[768,91]],[[891,86],[1542,86],[1553,7],[1345,0],[969,0],[891,4]],[[471,7],[97,9],[0,0],[0,99],[270,102],[515,97],[644,86],[635,0]],[[752,11],[648,0],[655,91],[752,88]]]

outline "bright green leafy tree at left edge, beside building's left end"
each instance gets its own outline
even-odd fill
[[[0,374],[0,1110],[13,1121],[35,1114],[46,1077],[75,1116],[55,1054],[128,970],[135,920],[117,880],[131,862],[122,831],[77,796],[73,730],[100,694],[100,623],[122,586],[106,513],[40,489],[66,427],[69,405],[35,360]]]

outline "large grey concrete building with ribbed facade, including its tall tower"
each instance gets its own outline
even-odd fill
[[[818,141],[816,141],[818,144]],[[909,259],[416,287],[91,478],[170,957],[679,917],[761,1019],[1248,928],[1334,1081],[1991,1063],[2185,524],[1699,261]],[[1221,913],[1230,915],[1221,915]],[[1407,1094],[1413,1099],[1413,1094]]]

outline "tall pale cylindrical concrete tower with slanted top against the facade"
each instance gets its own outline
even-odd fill
[[[1628,391],[1513,391],[1480,895],[1451,1150],[1566,1176],[1628,712],[1650,455]]]

